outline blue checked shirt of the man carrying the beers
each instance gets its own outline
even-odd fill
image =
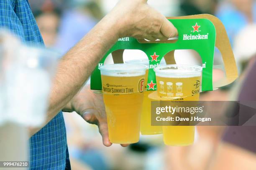
[[[23,42],[44,45],[28,0],[0,0],[0,28],[8,29]],[[70,169],[62,112],[31,137],[30,167],[31,170]]]

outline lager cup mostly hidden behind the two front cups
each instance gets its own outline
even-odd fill
[[[125,61],[126,63],[138,63],[146,65],[148,68],[150,67],[148,59],[142,60],[128,60]],[[165,60],[162,59],[160,65],[166,65]],[[159,66],[159,65],[155,65]],[[154,67],[154,66],[151,66]],[[145,77],[145,90],[147,88],[148,82],[148,69],[146,70],[146,77]],[[151,101],[152,99],[148,98],[148,95],[154,91],[145,91],[144,92],[144,99],[143,99],[143,108],[141,113],[141,134],[142,135],[153,135],[153,134],[161,134],[162,128],[161,126],[151,126]]]

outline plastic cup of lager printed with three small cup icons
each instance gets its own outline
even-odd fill
[[[202,67],[195,65],[167,65],[156,67],[157,92],[160,97],[183,101],[198,101]],[[164,87],[161,85],[164,82]],[[172,85],[172,87],[171,87]],[[164,88],[164,92],[162,92]],[[172,89],[172,90],[170,90]],[[163,126],[166,145],[183,146],[194,143],[195,126]]]

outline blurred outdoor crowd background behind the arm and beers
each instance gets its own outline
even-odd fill
[[[62,54],[74,46],[104,17],[118,0],[29,0],[45,45]],[[225,25],[235,53],[240,77],[256,56],[255,0],[148,0],[148,4],[165,16],[208,13]],[[75,26],[74,26],[75,25]],[[186,55],[186,57],[181,57]],[[146,57],[140,51],[126,51],[125,60]],[[201,65],[197,52],[176,51],[181,63]],[[113,62],[111,56],[106,61]],[[216,49],[215,65],[223,65]],[[223,76],[216,71],[214,77]],[[203,92],[201,100],[236,100],[239,80],[228,87]],[[215,108],[216,109],[216,108]],[[161,135],[141,135],[139,143],[122,148],[105,147],[98,129],[74,113],[64,113],[70,158],[74,170],[205,170],[217,148],[223,144],[225,127],[197,127],[195,144],[189,147],[167,147]],[[242,137],[241,137],[242,138]],[[256,146],[255,146],[256,148]],[[238,149],[238,150],[236,150]],[[251,150],[237,146],[228,154],[255,156]],[[248,156],[249,157],[249,156]],[[241,161],[242,163],[243,161]],[[232,164],[232,163],[231,163]],[[221,168],[220,168],[221,169]],[[223,170],[226,169],[223,167]]]

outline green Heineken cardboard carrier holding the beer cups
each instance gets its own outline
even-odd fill
[[[215,16],[189,15],[167,18],[177,28],[179,36],[176,40],[146,41],[133,37],[120,38],[105,54],[91,75],[91,89],[102,90],[100,70],[106,57],[112,53],[114,63],[123,63],[124,50],[142,50],[149,60],[148,82],[146,90],[156,90],[156,75],[154,67],[158,66],[164,57],[166,64],[175,64],[174,50],[192,49],[199,53],[202,59],[202,91],[210,91],[230,84],[238,77],[235,58],[228,40],[225,27]],[[225,77],[212,83],[213,59],[215,47],[220,51]]]

